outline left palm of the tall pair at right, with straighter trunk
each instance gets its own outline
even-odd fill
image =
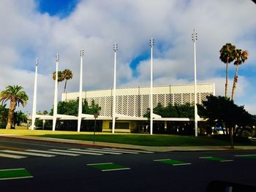
[[[219,59],[226,64],[226,83],[225,83],[225,97],[227,98],[227,85],[228,85],[228,64],[234,61],[234,53],[236,46],[230,43],[223,45],[222,49],[219,50]]]

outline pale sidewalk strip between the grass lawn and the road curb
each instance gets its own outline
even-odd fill
[[[33,137],[33,136],[20,136],[20,135],[7,135],[0,134],[0,137],[10,137],[17,139],[29,139],[45,142],[59,142],[69,143],[75,145],[88,145],[97,147],[117,147],[132,150],[147,150],[152,152],[169,152],[169,151],[206,151],[206,150],[231,150],[230,146],[189,146],[189,147],[151,147],[151,146],[140,146],[140,145],[127,145],[110,142],[92,142],[92,141],[80,141],[72,139],[56,139],[50,137]],[[256,150],[256,146],[235,146],[234,150]]]

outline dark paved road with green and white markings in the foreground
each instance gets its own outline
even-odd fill
[[[255,150],[144,153],[1,138],[0,179],[6,180],[0,180],[0,188],[1,191],[206,191],[212,180],[256,185],[255,162]],[[3,169],[25,169],[30,177],[10,180],[1,174]]]

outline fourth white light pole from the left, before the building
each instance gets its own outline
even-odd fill
[[[115,60],[114,60],[114,85],[113,85],[113,115],[112,115],[112,133],[115,133],[115,124],[116,124],[116,51],[118,50],[118,45],[113,45],[113,50],[115,53]]]

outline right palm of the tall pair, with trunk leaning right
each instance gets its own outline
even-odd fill
[[[249,56],[249,53],[247,50],[236,50],[235,51],[235,60],[236,61],[235,61],[234,65],[236,65],[236,72],[235,72],[235,76],[234,76],[232,95],[231,95],[232,101],[234,101],[234,99],[235,99],[236,83],[238,82],[238,66],[241,64],[244,64],[244,62],[247,60],[248,56]]]

